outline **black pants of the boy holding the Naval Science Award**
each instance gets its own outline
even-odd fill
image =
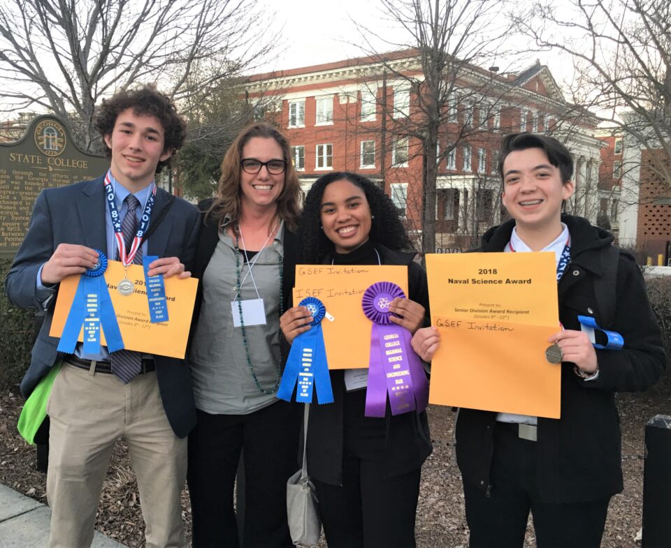
[[[470,548],[521,548],[531,511],[538,548],[598,548],[609,498],[586,503],[546,503],[536,488],[535,442],[497,423],[490,496],[464,482]]]

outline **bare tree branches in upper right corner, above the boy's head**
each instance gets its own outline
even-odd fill
[[[572,56],[575,103],[644,149],[664,151],[651,156],[657,175],[671,187],[671,3],[541,0],[512,17],[540,47]]]

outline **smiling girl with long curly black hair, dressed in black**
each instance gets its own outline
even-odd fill
[[[406,265],[409,299],[394,299],[395,323],[415,332],[428,325],[426,273],[410,247],[391,200],[361,175],[320,177],[298,223],[302,262]],[[291,342],[310,313],[289,309],[280,327]],[[345,341],[343,341],[345,342]],[[352,364],[352,368],[362,364]],[[349,371],[349,370],[347,370]],[[426,411],[366,417],[366,390],[345,387],[347,371],[330,371],[334,403],[310,406],[308,473],[315,482],[329,548],[412,548],[421,464],[431,454]]]

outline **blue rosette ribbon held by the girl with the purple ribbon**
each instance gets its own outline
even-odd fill
[[[296,401],[312,403],[312,387],[316,387],[317,403],[333,403],[331,376],[329,375],[329,364],[326,362],[326,348],[322,333],[322,320],[326,314],[326,308],[322,301],[315,297],[303,299],[298,306],[305,306],[310,311],[312,329],[308,329],[294,339],[287,358],[287,365],[284,366],[277,397],[291,401],[294,386],[298,383]]]

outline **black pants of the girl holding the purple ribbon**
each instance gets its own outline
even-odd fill
[[[314,480],[329,548],[414,548],[419,475],[385,478],[377,461],[345,457],[342,487]]]

